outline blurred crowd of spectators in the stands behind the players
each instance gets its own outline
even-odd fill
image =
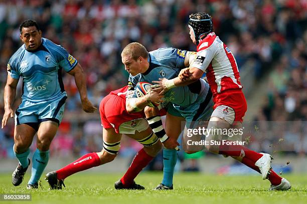
[[[120,58],[126,44],[138,41],[148,51],[167,46],[196,50],[187,21],[190,13],[200,11],[212,15],[214,31],[232,50],[240,70],[252,68],[250,77],[256,79],[252,91],[265,95],[255,120],[306,121],[306,0],[0,0],[1,115],[6,66],[21,46],[19,25],[23,20],[35,19],[43,37],[61,44],[78,59],[87,74],[90,100],[99,106],[106,94],[127,83]],[[258,89],[263,79],[268,85]],[[80,156],[100,150],[98,112],[83,114],[74,78],[63,73],[63,81],[68,101],[51,154]],[[20,98],[15,108],[19,103]],[[293,142],[306,144],[294,148],[294,153],[307,153],[305,126],[301,122],[298,133],[293,133],[300,139]],[[0,158],[14,157],[13,129],[11,119],[0,130]],[[123,139],[120,155],[132,156],[139,147]],[[254,147],[263,150],[261,145]]]

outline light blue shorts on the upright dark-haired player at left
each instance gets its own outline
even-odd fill
[[[23,99],[15,113],[15,125],[22,123],[41,123],[52,120],[60,124],[63,118],[67,96],[52,100],[31,102]]]

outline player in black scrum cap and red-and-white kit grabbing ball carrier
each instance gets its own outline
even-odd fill
[[[197,55],[189,68],[181,70],[179,77],[156,81],[165,90],[188,85],[197,81],[204,72],[213,93],[214,111],[208,128],[242,128],[244,114],[247,110],[245,96],[242,92],[241,78],[236,60],[231,50],[213,32],[211,16],[206,12],[191,14],[189,17],[190,37],[197,45]],[[162,91],[163,92],[165,92]],[[172,89],[171,89],[172,90]],[[213,131],[219,132],[219,131]],[[271,155],[258,153],[242,145],[211,145],[211,140],[220,140],[221,135],[211,133],[206,138],[206,148],[214,153],[232,156],[250,168],[258,171],[262,179],[271,182],[270,190],[287,190],[289,181],[280,177],[271,169]]]

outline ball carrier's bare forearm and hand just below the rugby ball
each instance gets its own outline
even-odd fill
[[[139,112],[148,105],[149,102],[162,102],[162,97],[159,93],[162,91],[162,88],[156,88],[155,90],[150,90],[143,97],[132,98],[131,96],[126,97],[126,110],[129,113]],[[132,91],[133,94],[133,91]],[[130,94],[130,95],[132,95]],[[128,95],[128,94],[127,94]]]

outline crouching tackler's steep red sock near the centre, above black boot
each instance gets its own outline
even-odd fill
[[[133,179],[137,176],[137,174],[152,160],[152,156],[149,156],[145,151],[144,148],[139,150],[126,173],[120,178],[122,184],[124,186],[129,186],[132,184]]]

